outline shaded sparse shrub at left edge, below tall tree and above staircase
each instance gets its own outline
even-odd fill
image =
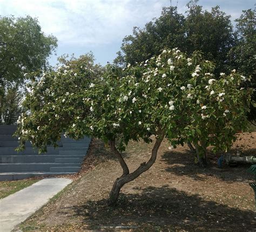
[[[0,124],[14,124],[21,114],[22,93],[18,86],[8,87],[4,91],[0,108]]]

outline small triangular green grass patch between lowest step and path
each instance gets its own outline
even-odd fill
[[[15,180],[15,181],[1,181],[0,182],[0,199],[9,196],[19,190],[31,186],[38,180]]]

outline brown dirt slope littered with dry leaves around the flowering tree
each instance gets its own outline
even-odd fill
[[[161,145],[156,163],[122,188],[116,207],[105,206],[122,174],[116,158],[93,139],[82,172],[68,188],[26,220],[22,231],[255,231],[250,165],[223,170],[193,164],[188,147]],[[152,144],[131,142],[124,154],[130,172],[147,161]],[[233,146],[255,155],[256,132],[240,135]],[[89,169],[89,171],[87,171]]]

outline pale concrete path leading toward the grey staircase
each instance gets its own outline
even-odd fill
[[[0,232],[14,229],[71,182],[47,178],[0,200]]]

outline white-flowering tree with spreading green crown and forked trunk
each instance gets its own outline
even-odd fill
[[[79,73],[62,67],[31,86],[24,101],[27,111],[18,121],[20,148],[30,140],[45,151],[48,144],[57,146],[62,133],[109,142],[123,168],[107,201],[111,206],[125,183],[153,165],[164,137],[170,149],[190,142],[203,165],[207,146],[226,150],[238,129],[246,127],[251,90],[239,87],[245,77],[233,70],[217,80],[213,70],[200,53],[187,58],[178,49],[124,70],[109,65],[100,78],[83,66]],[[139,139],[154,141],[151,157],[130,173],[120,152]]]

